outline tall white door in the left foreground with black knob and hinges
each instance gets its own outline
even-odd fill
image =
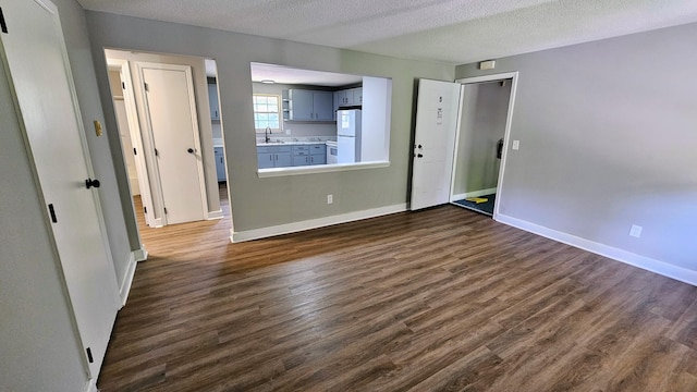
[[[86,363],[96,377],[119,308],[119,290],[97,191],[85,184],[91,167],[58,11],[46,0],[0,0],[0,5],[8,24],[8,33],[0,34],[7,66],[53,222]]]

